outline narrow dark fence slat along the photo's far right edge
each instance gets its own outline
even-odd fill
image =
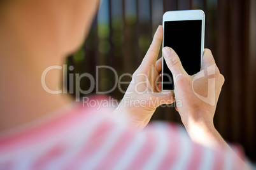
[[[248,146],[248,156],[250,155],[252,160],[256,160],[256,1],[250,0],[250,16],[249,18],[249,60],[246,63],[248,65],[246,79],[248,81],[246,88],[246,146]],[[253,135],[254,134],[254,135]]]

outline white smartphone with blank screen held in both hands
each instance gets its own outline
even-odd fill
[[[176,51],[183,68],[189,75],[201,69],[204,51],[204,11],[167,11],[163,15],[163,48]],[[173,78],[166,62],[162,60],[162,91],[174,90]]]

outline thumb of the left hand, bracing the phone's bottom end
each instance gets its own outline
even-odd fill
[[[167,93],[152,93],[151,96],[155,107],[159,107],[164,104],[169,105],[175,101],[174,93],[171,91],[168,91]]]

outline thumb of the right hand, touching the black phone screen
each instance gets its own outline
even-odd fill
[[[172,74],[187,74],[187,72],[183,69],[180,58],[175,53],[172,48],[165,47],[162,49],[162,54],[164,55],[164,59],[166,60],[166,64],[168,68],[171,70]]]

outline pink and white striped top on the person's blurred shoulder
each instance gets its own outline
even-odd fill
[[[178,125],[135,131],[106,116],[111,111],[78,106],[1,134],[0,169],[243,169],[229,152],[193,143]]]

